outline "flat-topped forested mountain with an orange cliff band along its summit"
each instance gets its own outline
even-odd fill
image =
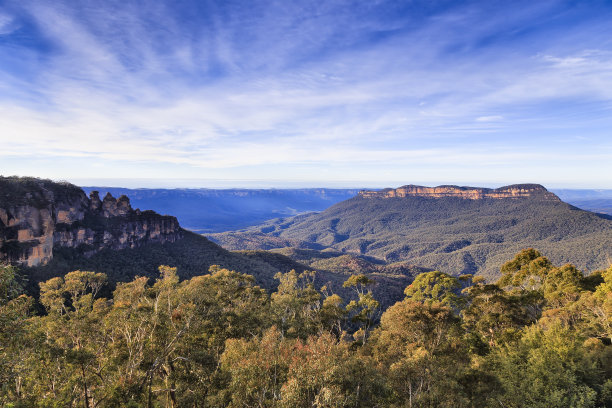
[[[270,248],[276,242],[318,245],[452,274],[494,276],[525,247],[554,263],[584,270],[609,265],[612,219],[580,210],[538,185],[496,190],[456,186],[364,191],[315,214],[274,220],[211,238],[230,249],[248,236]],[[279,246],[280,247],[280,246]]]

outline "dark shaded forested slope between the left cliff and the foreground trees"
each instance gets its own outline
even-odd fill
[[[316,288],[326,286],[330,291],[346,295],[342,283],[350,275],[367,274],[376,278],[372,290],[384,307],[402,297],[402,288],[424,270],[409,264],[387,266],[380,261],[370,262],[363,257],[348,259],[346,254],[326,252],[325,262],[316,262],[321,256],[318,251],[309,253],[300,261],[280,253],[267,251],[228,251],[201,235],[183,232],[183,238],[173,243],[148,244],[139,248],[104,250],[93,256],[85,256],[72,248],[56,248],[53,259],[44,266],[22,267],[24,286],[28,293],[38,294],[40,282],[63,276],[74,270],[88,270],[104,273],[107,285],[103,292],[109,295],[119,282],[128,282],[136,276],[154,279],[158,276],[159,265],[177,268],[181,279],[190,279],[206,273],[217,265],[221,268],[248,273],[254,283],[267,290],[274,290],[278,281],[274,276],[296,270],[316,271],[313,284]]]

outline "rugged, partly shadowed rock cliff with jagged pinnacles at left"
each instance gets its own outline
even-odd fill
[[[68,183],[0,177],[0,262],[37,266],[59,248],[90,256],[182,237],[175,217],[134,210],[126,196],[100,200]]]

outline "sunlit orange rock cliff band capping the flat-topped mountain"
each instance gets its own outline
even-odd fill
[[[363,190],[359,195],[364,198],[394,198],[394,197],[426,197],[444,198],[456,197],[466,200],[518,199],[533,198],[547,201],[561,201],[559,197],[539,184],[513,184],[496,189],[480,187],[438,186],[423,187],[408,185],[396,189],[387,188],[380,191]]]

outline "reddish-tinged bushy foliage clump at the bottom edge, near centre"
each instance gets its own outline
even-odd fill
[[[287,339],[272,327],[261,337],[228,340],[221,357],[231,375],[229,407],[372,407],[381,399],[370,358],[329,333]]]

